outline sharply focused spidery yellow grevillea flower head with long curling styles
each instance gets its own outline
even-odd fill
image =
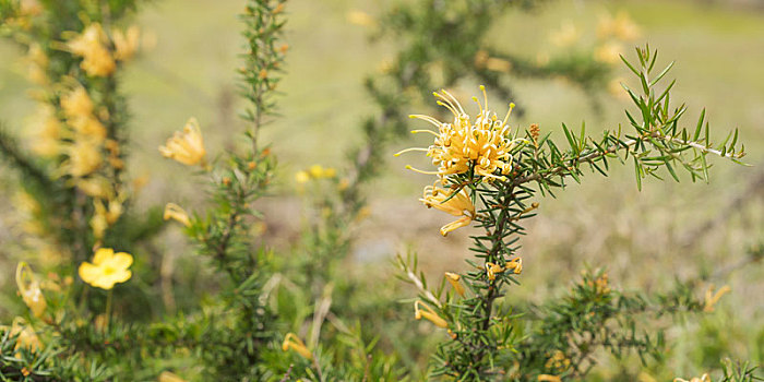
[[[486,87],[480,86],[480,89],[485,104],[480,104],[476,97],[473,97],[473,100],[480,107],[480,112],[474,122],[470,121],[458,100],[444,89],[441,93],[434,93],[434,96],[439,98],[438,105],[445,107],[454,115],[453,122],[441,122],[430,116],[410,116],[426,120],[438,128],[438,131],[411,131],[413,133],[427,132],[435,135],[434,143],[427,148],[407,148],[395,155],[408,151],[426,152],[427,156],[432,158],[432,164],[438,167],[438,170],[421,171],[410,166],[406,166],[406,168],[423,174],[434,174],[441,178],[474,170],[475,175],[489,180],[504,179],[504,175],[512,169],[510,152],[515,143],[521,141],[510,135],[510,126],[508,124],[514,104],[510,104],[510,110],[504,119],[499,120],[497,115],[488,109]]]

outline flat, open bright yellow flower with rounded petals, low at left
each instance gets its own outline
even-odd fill
[[[79,274],[83,282],[102,289],[111,289],[117,283],[124,283],[132,277],[128,270],[133,256],[127,252],[115,253],[114,249],[99,248],[93,256],[93,263],[80,265]]]

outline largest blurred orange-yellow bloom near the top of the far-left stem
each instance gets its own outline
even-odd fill
[[[67,46],[69,50],[83,58],[80,63],[88,75],[106,76],[117,69],[111,52],[106,47],[108,37],[99,23],[88,25],[80,35],[71,38]]]

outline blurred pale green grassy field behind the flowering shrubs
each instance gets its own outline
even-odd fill
[[[156,150],[188,117],[199,118],[213,154],[241,141],[235,73],[242,46],[236,19],[241,7],[232,0],[163,0],[142,11],[138,22],[156,34],[158,44],[124,76],[134,117],[130,171],[151,177],[139,200],[141,207],[201,198],[188,174],[178,171],[178,165],[164,160]],[[368,31],[348,23],[346,14],[350,10],[375,14],[384,7],[385,1],[295,0],[288,4],[290,53],[280,85],[282,118],[265,129],[263,138],[273,142],[279,158],[277,188],[291,195],[262,203],[268,231],[275,236],[273,246],[289,246],[300,225],[294,172],[314,163],[342,169],[344,153],[359,143],[359,121],[372,112],[362,77],[378,70],[393,46],[384,40],[370,45]],[[508,14],[492,33],[492,44],[534,58],[554,49],[549,35],[569,21],[583,36],[580,44],[590,44],[598,16],[619,11],[642,26],[638,44],[658,48],[660,63],[677,61],[670,76],[678,79],[676,98],[688,103],[685,122],[693,123],[692,118],[706,107],[718,135],[739,128],[749,153],[744,159],[753,166],[714,159],[709,184],[693,184],[689,179],[681,184],[647,181],[642,192],[636,190],[632,168],[624,166],[612,171],[612,179],[592,175],[560,198],[541,200],[539,216],[523,241],[523,286],[510,301],[541,301],[568,288],[584,266],[606,266],[612,283],[626,289],[657,290],[675,277],[735,264],[748,248],[764,241],[764,181],[751,187],[764,174],[763,11],[701,1],[551,1],[532,14]],[[34,110],[25,96],[31,87],[17,63],[20,51],[2,41],[0,57],[0,120],[23,135]],[[621,72],[625,75],[625,70]],[[562,122],[577,126],[586,120],[592,131],[598,131],[625,121],[628,104],[607,92],[598,95],[604,109],[598,114],[584,92],[565,81],[512,80],[518,95],[513,102],[525,108],[523,118],[514,119],[516,126],[536,122],[542,131],[557,131]],[[463,83],[459,91],[471,95],[477,85]],[[420,112],[421,106],[410,111]],[[401,142],[391,148],[389,169],[369,189],[371,216],[358,227],[356,263],[392,275],[389,260],[410,248],[432,275],[465,268],[468,230],[440,237],[438,227],[450,216],[428,211],[417,201],[430,178],[404,170],[407,160],[414,160],[410,157],[392,157],[410,145]],[[3,177],[12,179],[7,172]],[[8,182],[2,187],[10,188]],[[11,211],[9,203],[5,198],[0,211]],[[714,224],[704,229],[706,222]],[[13,239],[8,234],[2,237]],[[168,251],[184,255],[182,247],[175,246],[177,236],[169,234],[167,240]],[[14,262],[0,252],[0,268],[7,270],[0,283],[12,278]],[[719,357],[764,362],[762,265],[749,265],[715,282],[732,287],[717,312],[669,332],[678,344],[669,356],[676,372],[695,372],[691,369],[695,365],[717,366],[713,353],[717,348]],[[0,317],[7,314],[0,307]]]

